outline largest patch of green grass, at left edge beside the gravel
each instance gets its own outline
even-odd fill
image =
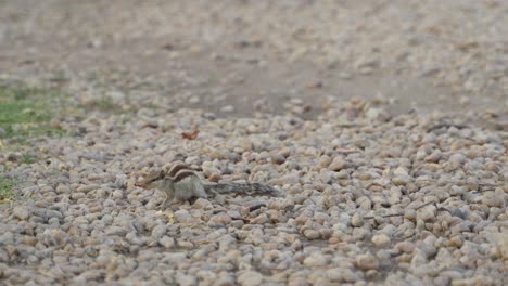
[[[56,89],[29,88],[0,81],[0,127],[5,138],[61,135],[64,131],[52,127],[50,120],[58,113],[58,100],[63,93]]]

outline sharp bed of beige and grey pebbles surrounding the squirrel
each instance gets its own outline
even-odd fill
[[[297,107],[297,101],[291,105]],[[5,284],[504,285],[507,133],[383,104],[214,119],[142,108],[62,121],[1,164],[22,195],[0,214]],[[181,132],[200,128],[194,140]],[[221,182],[284,198],[199,199],[157,209],[139,177],[183,159]],[[251,209],[252,204],[266,207]]]

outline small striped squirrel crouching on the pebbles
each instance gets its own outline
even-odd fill
[[[246,196],[284,196],[282,191],[261,183],[211,183],[200,178],[199,173],[185,164],[174,165],[169,171],[152,172],[141,182],[135,184],[143,188],[164,191],[166,199],[161,206],[174,198],[190,200],[191,198],[207,198],[216,195]]]

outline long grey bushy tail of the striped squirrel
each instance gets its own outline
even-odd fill
[[[244,196],[284,196],[282,191],[259,183],[227,183],[205,185],[206,191],[217,194],[233,194]]]

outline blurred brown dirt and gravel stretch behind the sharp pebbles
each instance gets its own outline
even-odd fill
[[[312,115],[329,96],[482,113],[508,105],[507,12],[500,0],[0,1],[0,70],[219,116],[280,114],[288,99]]]

